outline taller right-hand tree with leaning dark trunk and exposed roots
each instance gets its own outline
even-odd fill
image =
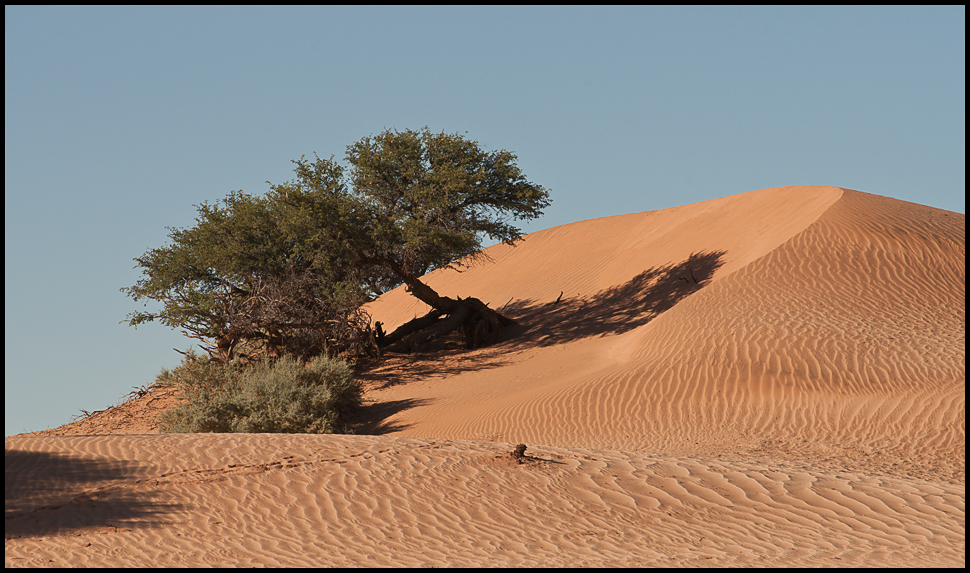
[[[297,180],[273,193],[314,214],[334,213],[340,194],[336,216],[314,215],[306,224],[350,248],[375,294],[403,283],[432,308],[386,336],[384,346],[404,350],[461,328],[474,348],[498,341],[513,321],[476,298],[441,296],[420,277],[483,259],[484,237],[514,245],[522,233],[509,221],[542,214],[548,191],[527,181],[515,161],[508,151],[486,152],[459,134],[388,130],[348,147],[349,192],[332,158],[304,158],[296,162]]]

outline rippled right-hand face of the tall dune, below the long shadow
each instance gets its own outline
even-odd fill
[[[831,201],[824,188],[775,189],[736,196],[749,204],[721,213],[725,233],[744,235],[779,215],[773,200],[812,192],[826,200],[801,213],[805,226],[756,242],[771,247],[760,255],[736,248],[707,288],[646,325],[551,348],[512,341],[502,366],[402,390],[425,405],[395,423],[414,436],[858,458],[962,479],[965,217],[856,191]],[[705,247],[717,243],[666,252]],[[502,262],[496,275],[521,272]]]

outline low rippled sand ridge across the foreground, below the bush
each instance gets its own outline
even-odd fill
[[[811,468],[554,447],[518,464],[495,443],[279,434],[7,438],[5,451],[18,477],[5,483],[7,566],[959,566],[964,555],[962,486]]]

